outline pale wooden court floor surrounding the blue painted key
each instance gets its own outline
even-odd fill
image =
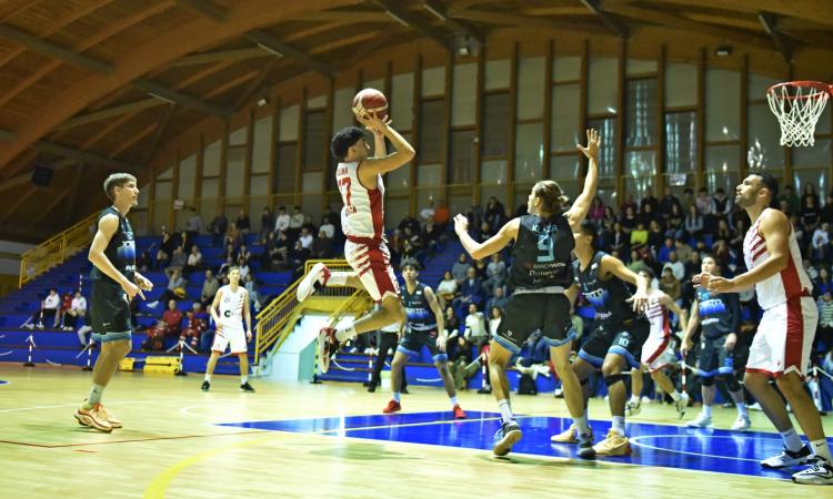
[[[0,364],[0,380],[10,381],[0,385],[2,495],[763,499],[831,493],[771,478],[514,454],[496,459],[486,450],[448,445],[217,426],[372,415],[381,411],[389,394],[368,394],[354,384],[279,384],[257,378],[252,384],[258,393],[242,394],[234,377],[215,377],[212,390],[202,393],[201,379],[118,374],[104,403],[124,428],[106,435],[80,427],[72,417],[89,390],[88,373],[77,367],[27,369]],[[469,410],[495,410],[486,395],[466,393],[461,403]],[[513,405],[526,415],[565,415],[563,400],[546,395],[516,397]],[[403,406],[405,411],[434,411],[446,410],[449,403],[438,389],[413,387]],[[636,420],[672,422],[671,413],[669,406],[650,405]],[[715,413],[715,424],[724,427],[734,416],[727,409]],[[605,403],[594,400],[591,417],[606,414]],[[757,429],[772,430],[762,414],[752,417]],[[825,425],[831,429],[830,418]]]

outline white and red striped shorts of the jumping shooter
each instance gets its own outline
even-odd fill
[[[399,296],[399,282],[391,267],[391,252],[388,245],[362,244],[353,241],[344,243],[344,258],[364,285],[370,297],[379,303],[385,296]]]

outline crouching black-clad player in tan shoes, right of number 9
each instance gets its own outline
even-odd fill
[[[590,397],[586,379],[595,369],[601,369],[608,384],[608,400],[612,426],[604,440],[593,447],[579,449],[579,457],[623,456],[631,452],[624,431],[625,399],[628,388],[624,379],[626,370],[640,368],[642,345],[651,332],[651,324],[643,314],[648,303],[648,279],[628,268],[622,261],[595,249],[596,227],[591,221],[581,224],[575,234],[575,256],[573,272],[581,293],[596,312],[595,327],[590,338],[579,352],[573,363],[573,371],[584,386],[584,410]],[[636,293],[625,283],[636,286]],[[586,418],[586,413],[584,413]],[[578,427],[578,424],[576,424]],[[576,427],[570,427],[561,435],[552,437],[556,444],[582,439],[576,436]]]

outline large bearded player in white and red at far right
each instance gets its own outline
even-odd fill
[[[793,481],[833,485],[833,465],[819,410],[804,391],[810,349],[819,322],[819,309],[811,297],[812,284],[802,267],[795,232],[786,215],[771,208],[777,198],[777,181],[769,173],[750,174],[736,189],[736,204],[750,216],[752,226],[743,240],[749,272],[734,278],[694,276],[695,284],[710,292],[737,293],[755,286],[763,308],[761,324],[750,347],[744,385],[784,440],[784,450],[761,462],[764,468],[814,465],[793,475]],[[810,440],[804,446],[793,428],[784,400]]]

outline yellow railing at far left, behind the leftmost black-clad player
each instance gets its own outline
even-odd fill
[[[93,231],[99,214],[93,213],[63,232],[50,237],[38,246],[23,253],[20,258],[19,287],[33,281],[39,275],[60,265],[70,256],[86,248],[92,242]]]

